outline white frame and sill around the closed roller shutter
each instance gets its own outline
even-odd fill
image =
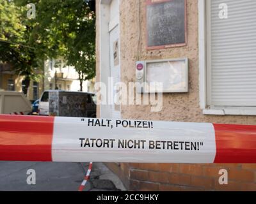
[[[199,43],[199,98],[200,108],[204,115],[256,115],[256,106],[211,106],[209,92],[211,86],[207,85],[207,0],[198,0],[198,43]],[[207,14],[208,13],[208,14]],[[211,45],[210,45],[211,46]],[[209,46],[208,46],[209,47]],[[209,77],[209,76],[208,76]]]

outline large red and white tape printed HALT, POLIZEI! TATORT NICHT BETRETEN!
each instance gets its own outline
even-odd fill
[[[256,126],[0,115],[0,160],[256,163]]]

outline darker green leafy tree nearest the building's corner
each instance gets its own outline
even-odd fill
[[[15,0],[25,6],[29,0]],[[84,0],[37,0],[31,40],[48,57],[61,56],[83,81],[95,77],[95,13]]]

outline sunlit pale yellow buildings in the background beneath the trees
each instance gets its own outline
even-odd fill
[[[35,101],[45,90],[59,89],[63,91],[80,91],[79,76],[76,69],[66,66],[63,61],[47,60],[44,71],[40,73],[44,78],[39,82],[30,82],[27,98]],[[94,91],[95,80],[83,82],[83,92]],[[0,90],[24,92],[24,77],[15,75],[10,65],[0,64]]]

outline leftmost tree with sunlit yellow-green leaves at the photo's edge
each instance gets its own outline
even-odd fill
[[[30,80],[39,80],[40,61],[33,43],[30,43],[31,26],[24,13],[13,1],[0,0],[0,61],[11,65],[17,75],[25,77],[24,94]]]

